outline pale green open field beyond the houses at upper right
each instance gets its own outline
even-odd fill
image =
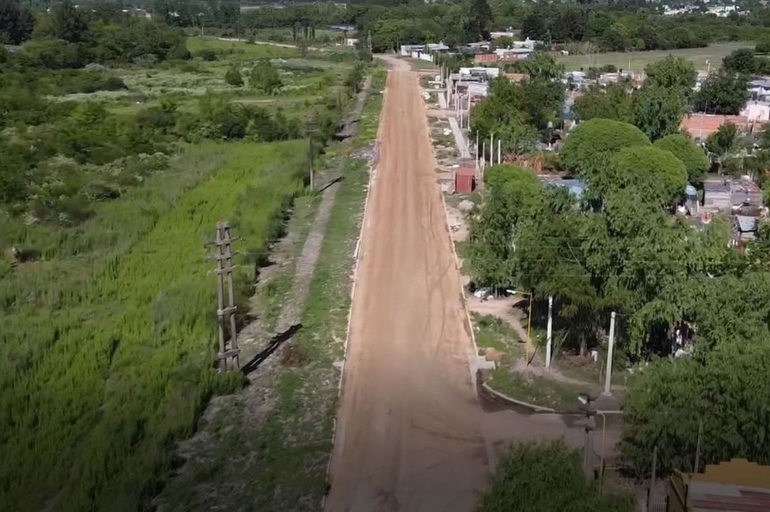
[[[641,71],[645,65],[664,59],[668,55],[684,57],[695,63],[695,69],[706,69],[706,62],[711,69],[721,65],[721,59],[733,50],[754,46],[752,42],[725,42],[708,45],[705,48],[691,48],[681,50],[653,50],[651,52],[607,52],[594,55],[565,55],[558,57],[558,62],[564,64],[567,71],[580,68],[588,69],[591,66],[614,64],[619,69],[631,69]]]

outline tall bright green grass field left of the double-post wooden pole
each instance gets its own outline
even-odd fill
[[[302,187],[302,147],[207,145],[199,156],[220,165],[196,171],[191,159],[192,178],[105,203],[88,226],[48,233],[59,237],[48,261],[4,276],[0,510],[147,506],[174,440],[192,433],[212,393],[239,383],[213,372],[216,293],[203,241],[231,221],[252,255],[237,276],[247,286],[249,259]]]

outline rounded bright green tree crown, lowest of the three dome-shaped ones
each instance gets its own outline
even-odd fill
[[[685,192],[687,171],[685,164],[665,149],[635,146],[615,153],[608,172],[597,173],[589,183],[600,186],[604,193],[631,189],[634,200],[671,206]]]

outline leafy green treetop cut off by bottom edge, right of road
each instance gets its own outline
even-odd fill
[[[581,453],[564,440],[519,443],[500,458],[477,512],[631,512],[631,495],[587,483]]]

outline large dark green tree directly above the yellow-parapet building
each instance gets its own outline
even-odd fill
[[[735,300],[743,303],[738,296]],[[623,400],[619,450],[624,463],[639,477],[647,476],[655,447],[660,476],[675,469],[703,470],[733,457],[770,463],[768,365],[770,340],[760,338],[644,368]],[[700,422],[701,466],[695,468]]]

